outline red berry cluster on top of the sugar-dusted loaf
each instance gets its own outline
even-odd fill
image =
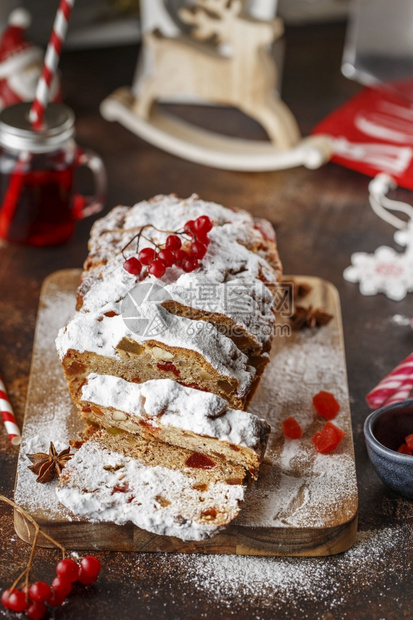
[[[155,227],[153,226],[153,228]],[[172,267],[172,265],[180,267],[187,273],[194,271],[194,269],[198,268],[199,261],[206,254],[209,244],[208,233],[211,228],[212,222],[207,215],[201,215],[196,220],[189,220],[186,222],[183,231],[177,231],[174,234],[168,235],[163,247],[156,245],[152,241],[156,249],[143,248],[138,252],[137,256],[128,258],[123,263],[123,267],[132,275],[138,276],[145,266],[147,267],[147,272],[155,276],[155,278],[162,278],[166,269]],[[138,237],[138,245],[141,232],[136,235]],[[181,237],[189,241],[187,249],[182,247]],[[148,240],[151,241],[151,239]]]

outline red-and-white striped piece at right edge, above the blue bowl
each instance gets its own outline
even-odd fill
[[[409,387],[410,386],[410,387]],[[408,398],[413,388],[413,353],[408,355],[394,370],[380,381],[366,396],[366,402],[371,409],[382,405],[398,402]],[[407,395],[403,397],[403,394]]]

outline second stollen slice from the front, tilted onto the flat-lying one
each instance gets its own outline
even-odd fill
[[[89,423],[221,457],[257,478],[270,427],[236,411],[216,394],[160,379],[130,383],[91,374],[82,387],[81,415]]]

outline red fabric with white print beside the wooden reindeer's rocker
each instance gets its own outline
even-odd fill
[[[413,189],[413,109],[401,94],[364,88],[312,133],[335,138],[332,161],[337,164],[371,177],[385,172]]]

